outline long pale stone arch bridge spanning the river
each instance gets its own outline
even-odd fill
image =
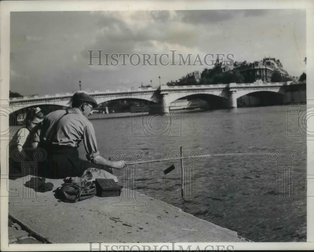
[[[287,87],[294,86],[291,82],[276,83],[230,83],[196,86],[160,86],[160,88],[129,88],[105,91],[78,91],[91,95],[98,104],[116,99],[134,99],[152,101],[164,105],[165,110],[177,99],[192,96],[205,97],[207,100],[220,99],[226,107],[237,107],[237,99],[243,95],[267,91],[284,95]],[[299,83],[300,84],[300,83]],[[305,84],[306,83],[301,83]],[[36,107],[41,105],[60,105],[71,107],[73,93],[32,95],[10,99],[13,111],[21,107]]]

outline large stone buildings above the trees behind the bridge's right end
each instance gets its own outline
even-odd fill
[[[281,62],[275,58],[263,58],[263,60],[253,63],[246,61],[235,62],[232,66],[228,66],[226,62],[218,62],[217,60],[214,69],[220,69],[221,72],[237,69],[244,77],[245,83],[252,83],[257,80],[270,82],[274,72],[279,72],[282,77],[293,79],[289,76],[288,72],[283,69]]]

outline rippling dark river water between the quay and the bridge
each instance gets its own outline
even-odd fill
[[[90,117],[100,154],[106,158],[114,158],[111,152],[115,149],[120,149],[129,162],[134,161],[133,153],[138,150],[143,155],[137,160],[173,158],[138,164],[136,184],[130,183],[131,189],[255,242],[306,241],[306,197],[294,195],[306,191],[306,180],[292,180],[292,200],[302,206],[267,206],[276,201],[278,184],[277,163],[267,158],[269,149],[299,149],[302,157],[293,162],[292,174],[306,174],[306,147],[294,142],[299,138],[287,136],[287,106],[171,113],[171,117],[131,113],[124,113],[129,117],[123,118],[108,119],[103,114]],[[297,121],[289,127],[297,130]],[[183,156],[198,149],[203,153],[203,158],[189,164],[193,176],[187,183],[192,189],[185,192],[186,200],[179,199],[178,161],[175,153],[171,155],[180,146]],[[80,155],[85,156],[83,146]],[[162,171],[171,164],[175,169],[163,177]],[[114,170],[114,174],[121,182],[121,172]]]

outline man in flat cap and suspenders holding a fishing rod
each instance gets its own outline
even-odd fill
[[[47,152],[46,160],[40,165],[40,175],[46,178],[61,179],[80,176],[87,168],[106,167],[121,169],[122,161],[107,160],[99,155],[95,131],[87,119],[97,102],[85,93],[75,93],[72,108],[56,110],[46,115],[41,124],[39,146]],[[83,140],[86,158],[78,157],[78,144]]]

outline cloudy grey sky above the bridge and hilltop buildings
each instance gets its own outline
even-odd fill
[[[23,95],[137,88],[211,66],[88,66],[88,50],[108,54],[232,53],[236,61],[279,59],[305,72],[305,10],[11,12],[10,90]],[[94,56],[96,55],[96,52]],[[121,60],[121,58],[119,58]],[[165,59],[165,58],[164,58]],[[208,58],[210,59],[210,58]],[[134,57],[134,62],[138,60]],[[153,63],[154,61],[151,60]],[[194,62],[194,60],[192,60]],[[102,58],[105,64],[105,57]],[[110,63],[110,61],[109,61]],[[116,62],[114,62],[116,63]]]

